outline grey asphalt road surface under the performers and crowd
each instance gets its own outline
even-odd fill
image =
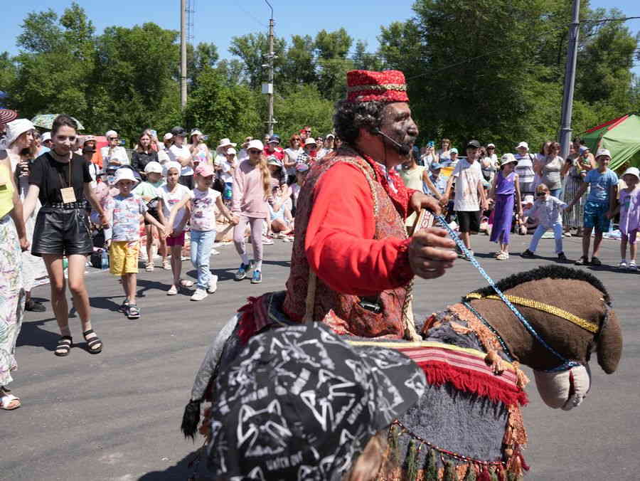
[[[553,240],[542,240],[546,258],[501,262],[485,236],[474,236],[477,257],[496,280],[553,262]],[[530,237],[514,238],[513,252]],[[577,258],[580,239],[565,240]],[[117,312],[119,283],[105,272],[87,275],[92,319],[105,342],[102,354],[83,349],[79,319],[71,319],[78,346],[55,357],[58,329],[48,303],[48,286],[34,290],[47,312],[27,313],[18,339],[19,370],[11,384],[23,406],[0,412],[0,480],[186,480],[188,462],[198,444],[182,437],[179,425],[193,375],[221,325],[247,296],[281,290],[287,278],[291,244],[265,247],[262,285],[235,282],[239,261],[233,246],[212,258],[220,277],[218,292],[202,302],[187,295],[169,297],[168,271],[139,275],[142,317],[131,321]],[[619,244],[605,240],[600,258],[617,265]],[[193,268],[183,263],[188,275]],[[530,443],[525,452],[529,480],[591,481],[640,479],[640,332],[638,273],[591,268],[614,297],[622,321],[624,354],[618,371],[605,375],[593,361],[592,391],[574,411],[555,411],[540,401],[532,382],[530,404],[523,409]],[[459,260],[446,276],[416,282],[417,316],[457,302],[484,285],[470,263]],[[531,374],[528,371],[528,374]],[[533,379],[533,375],[530,376]]]

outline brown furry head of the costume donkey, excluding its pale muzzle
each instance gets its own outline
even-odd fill
[[[616,370],[622,356],[622,329],[611,308],[611,298],[597,277],[583,270],[550,265],[511,275],[498,282],[497,286],[506,295],[557,308],[550,313],[536,307],[516,305],[540,337],[565,359],[579,361],[586,366],[592,351],[597,351],[598,364],[604,372],[611,374]],[[529,334],[504,302],[487,298],[496,294],[491,287],[474,293],[482,298],[471,300],[471,306],[496,329],[521,363],[536,371],[562,364],[557,356]],[[570,322],[565,319],[566,314],[579,319],[578,324],[580,319],[587,321],[587,325],[597,328],[597,332]]]

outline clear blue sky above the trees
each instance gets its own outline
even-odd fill
[[[274,7],[277,36],[289,40],[293,34],[309,33],[314,36],[323,28],[332,31],[345,27],[355,39],[368,43],[369,51],[378,47],[377,36],[380,26],[392,21],[404,21],[412,16],[412,1],[388,0],[324,0],[304,2],[292,0],[270,0]],[[566,0],[570,1],[570,0]],[[87,11],[98,33],[106,26],[133,26],[152,21],[164,28],[178,29],[179,0],[111,0],[82,1],[78,3]],[[3,40],[0,51],[18,53],[16,37],[21,33],[20,25],[30,11],[52,8],[62,14],[70,4],[52,0],[21,0],[11,2],[3,9]],[[193,41],[213,42],[218,46],[221,58],[230,56],[228,46],[233,36],[245,33],[267,31],[270,10],[264,0],[209,1],[192,0],[195,5]],[[592,8],[615,6],[626,16],[640,16],[638,0],[592,0]],[[632,20],[627,25],[633,33],[640,31],[640,20]],[[635,69],[640,75],[640,66]]]

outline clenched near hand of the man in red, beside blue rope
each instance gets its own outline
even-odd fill
[[[456,243],[447,231],[437,227],[421,229],[409,244],[409,265],[413,273],[423,279],[435,279],[454,265],[458,257],[453,249]]]

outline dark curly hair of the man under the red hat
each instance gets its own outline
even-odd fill
[[[380,128],[382,113],[388,104],[385,102],[349,102],[339,100],[334,114],[336,137],[347,144],[354,145],[360,137],[361,127],[373,131]]]

